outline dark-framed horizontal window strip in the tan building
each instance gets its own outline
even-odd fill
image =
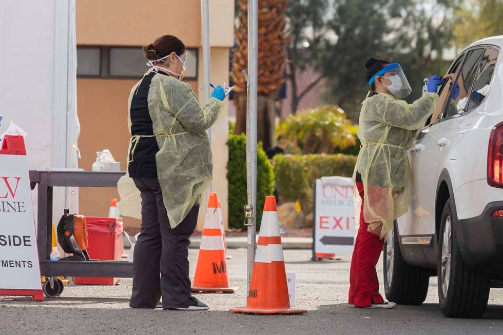
[[[138,78],[148,67],[141,47],[77,46],[77,76]],[[198,49],[187,49],[188,80],[197,80]]]

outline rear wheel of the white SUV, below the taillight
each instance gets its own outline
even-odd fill
[[[489,300],[491,279],[465,264],[449,200],[440,221],[437,273],[438,301],[443,314],[449,318],[480,318]]]

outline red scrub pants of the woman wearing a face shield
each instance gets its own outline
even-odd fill
[[[369,231],[369,224],[363,218],[363,184],[356,182],[361,197],[360,228],[355,241],[350,270],[349,304],[366,307],[383,302],[379,294],[379,280],[376,265],[384,245],[384,239]]]

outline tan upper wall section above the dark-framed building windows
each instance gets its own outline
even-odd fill
[[[77,0],[77,44],[144,45],[171,34],[201,45],[200,0]]]

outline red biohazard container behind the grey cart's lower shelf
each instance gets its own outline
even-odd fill
[[[88,246],[91,260],[120,261],[122,256],[123,226],[120,218],[98,218],[86,216]],[[75,284],[115,285],[119,278],[75,277]]]

